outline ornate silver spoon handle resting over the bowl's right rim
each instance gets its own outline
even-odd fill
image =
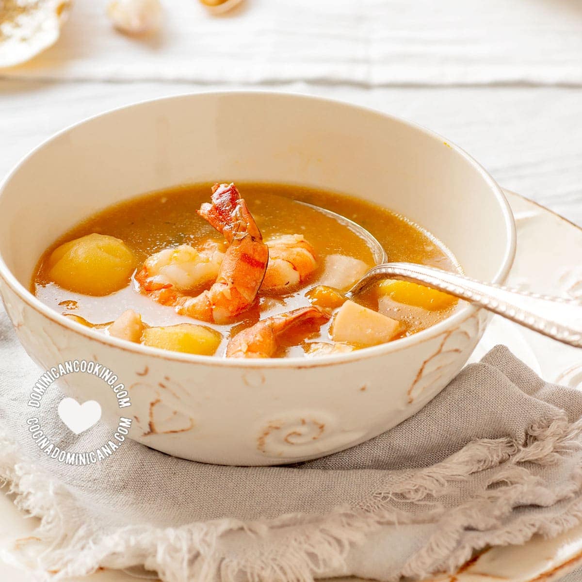
[[[393,262],[370,269],[347,294],[359,293],[380,279],[400,279],[427,285],[484,307],[549,338],[582,347],[582,304],[576,301],[524,293],[408,262]]]

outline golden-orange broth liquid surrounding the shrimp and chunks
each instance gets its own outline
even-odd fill
[[[204,240],[222,240],[216,230],[198,216],[200,205],[210,200],[211,184],[180,186],[133,198],[99,212],[69,230],[42,255],[31,282],[31,290],[49,307],[59,313],[79,315],[92,324],[115,320],[123,311],[132,308],[142,315],[148,325],[173,325],[193,322],[178,315],[172,307],[162,306],[141,295],[133,285],[108,296],[94,297],[63,289],[48,278],[48,257],[60,244],[90,233],[111,235],[122,239],[133,250],[141,264],[146,257],[166,247],[178,244],[195,246]],[[249,327],[259,318],[268,317],[310,303],[305,297],[308,289],[317,285],[322,275],[321,265],[331,254],[342,254],[373,266],[372,254],[363,240],[346,226],[294,200],[305,201],[338,212],[369,230],[384,246],[389,260],[409,261],[435,267],[459,269],[455,258],[445,247],[423,229],[386,208],[324,190],[281,184],[237,183],[241,196],[247,201],[264,239],[298,233],[306,237],[317,251],[320,268],[301,289],[285,295],[260,292],[257,304],[237,318],[233,325],[207,324],[223,335],[217,356],[222,356],[226,342],[240,329]],[[371,308],[378,308],[373,290],[359,299]],[[418,307],[393,303],[388,306],[391,317],[404,323],[401,335],[410,335],[430,327],[447,317],[453,307],[427,311]],[[283,339],[277,356],[303,356],[308,342],[329,342],[329,323],[314,329],[307,340]],[[295,345],[299,343],[299,345]]]

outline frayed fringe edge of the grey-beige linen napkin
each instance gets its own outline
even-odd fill
[[[582,421],[569,423],[564,415],[546,426],[531,427],[530,433],[525,443],[511,439],[472,441],[443,462],[414,471],[408,480],[392,483],[386,491],[372,492],[357,506],[338,506],[325,516],[287,514],[249,523],[220,519],[178,528],[126,526],[100,535],[90,525],[78,522],[81,504],[73,492],[46,471],[39,471],[0,427],[0,480],[10,483],[20,509],[40,517],[41,524],[31,539],[37,538],[44,548],[37,554],[20,544],[3,548],[0,556],[17,567],[26,567],[34,557],[37,579],[55,582],[89,574],[100,566],[123,569],[136,565],[156,570],[168,582],[193,577],[199,582],[230,582],[240,579],[241,574],[249,580],[309,582],[314,577],[363,575],[346,569],[353,546],[381,527],[430,521],[446,524],[449,534],[432,536],[401,572],[388,573],[384,579],[454,572],[484,546],[523,544],[534,534],[555,536],[582,522],[582,467],[556,490],[516,464],[553,463],[579,450],[576,439],[582,433]],[[464,503],[449,510],[439,504],[438,497],[450,492],[455,482],[503,463],[507,463],[502,471],[503,496],[492,489],[483,492],[478,504]],[[509,516],[528,499],[543,506],[568,499],[572,503],[552,517],[521,516],[510,527],[497,527],[502,516]],[[414,516],[395,508],[395,501],[423,503],[426,511]],[[480,524],[479,539],[462,540],[466,527],[475,523]],[[289,539],[279,552],[262,551],[233,559],[217,551],[225,534],[243,533],[252,543],[285,528]],[[483,529],[489,531],[484,533]]]

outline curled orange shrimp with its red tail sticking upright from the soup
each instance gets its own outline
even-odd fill
[[[146,260],[135,279],[142,293],[162,305],[172,306],[180,315],[226,324],[254,303],[267,270],[269,251],[235,184],[215,184],[212,203],[204,203],[198,214],[229,244],[211,288],[191,296],[176,286],[175,275],[174,282],[160,278],[161,267],[168,266],[164,262],[166,255]],[[172,266],[178,265],[179,261]]]

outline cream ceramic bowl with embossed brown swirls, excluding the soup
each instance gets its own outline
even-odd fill
[[[463,306],[410,338],[314,359],[222,360],[106,338],[29,292],[42,251],[93,212],[183,183],[257,180],[336,190],[385,205],[434,233],[467,275],[502,282],[514,222],[497,184],[448,141],[382,113],[279,93],[148,101],[52,137],[0,189],[0,290],[42,368],[97,360],[129,387],[130,435],[210,463],[276,464],[363,442],[414,414],[457,374],[487,315]],[[77,399],[120,416],[88,374]],[[128,413],[127,411],[130,411]]]

